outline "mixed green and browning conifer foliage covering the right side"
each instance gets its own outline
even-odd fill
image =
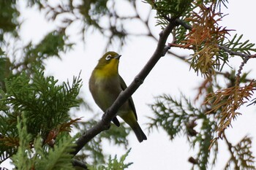
[[[165,10],[155,7],[161,3],[151,1],[150,4],[161,13]],[[256,82],[247,78],[249,73],[243,72],[243,68],[256,57],[256,48],[249,40],[243,42],[243,35],[230,36],[235,30],[219,26],[226,15],[222,14],[223,5],[228,7],[227,1],[192,1],[187,12],[180,16],[181,20],[176,21],[178,26],[173,30],[170,48],[190,50],[191,55],[182,59],[189,63],[190,69],[201,74],[204,81],[198,87],[194,102],[184,94],[179,100],[167,94],[157,97],[150,105],[155,116],[149,117],[148,128],[153,131],[162,127],[170,139],[183,134],[193,148],[199,146],[197,155],[189,158],[192,169],[214,167],[217,155],[221,154],[218,149],[220,139],[225,140],[231,154],[225,169],[255,169],[252,139],[244,136],[241,142],[233,145],[225,131],[243,114],[238,112],[241,106],[246,103],[248,107],[255,105]],[[158,15],[158,19],[163,27],[170,20],[164,13]],[[229,66],[230,58],[235,57],[242,59],[237,71]],[[231,71],[223,72],[224,68]],[[227,81],[225,85],[219,83],[223,77]]]

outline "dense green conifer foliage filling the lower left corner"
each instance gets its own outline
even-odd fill
[[[57,82],[36,70],[32,77],[21,72],[5,81],[6,91],[1,93],[1,162],[14,156],[18,169],[30,169],[37,166],[37,157],[42,158],[37,154],[45,155],[44,152],[48,151],[48,156],[59,154],[58,157],[66,158],[61,162],[71,163],[69,152],[73,146],[72,139],[67,139],[64,134],[79,120],[72,120],[68,111],[79,104],[77,96],[81,80],[74,78],[72,85],[69,82],[56,85]],[[54,152],[49,148],[53,146]],[[40,153],[37,153],[36,147]]]

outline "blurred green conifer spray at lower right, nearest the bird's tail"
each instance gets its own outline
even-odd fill
[[[155,116],[148,117],[151,120],[148,130],[163,128],[171,140],[178,134],[187,136],[192,147],[199,147],[196,158],[191,157],[189,161],[193,167],[207,169],[208,165],[214,166],[217,160],[218,143],[210,147],[217,128],[216,120],[213,115],[205,114],[206,108],[197,109],[189,99],[181,96],[179,100],[167,95],[157,97],[157,101],[150,105]],[[213,156],[210,158],[210,155]]]

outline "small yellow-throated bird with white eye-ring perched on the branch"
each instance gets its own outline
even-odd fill
[[[89,89],[94,101],[103,112],[113,104],[119,93],[127,88],[124,80],[118,74],[120,57],[121,55],[113,51],[105,53],[102,58],[99,59],[99,63],[91,73]],[[137,122],[138,117],[132,97],[118,109],[117,115],[132,128],[139,142],[143,142],[143,140],[147,139]],[[115,125],[120,125],[116,117],[114,117],[112,121]]]

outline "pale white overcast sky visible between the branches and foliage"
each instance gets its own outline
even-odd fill
[[[143,2],[140,4],[141,14],[148,11],[148,5]],[[256,42],[255,35],[255,7],[256,1],[244,0],[230,1],[227,4],[228,9],[223,12],[229,13],[221,23],[222,26],[227,26],[227,29],[236,29],[232,34],[244,34],[244,39],[250,39],[251,42]],[[21,11],[21,15],[25,22],[21,28],[21,34],[24,39],[24,44],[33,40],[38,42],[39,39],[54,28],[54,24],[48,24],[43,20],[43,15],[38,15],[33,9],[26,9]],[[154,25],[154,24],[153,24]],[[140,28],[136,26],[130,26],[132,28]],[[158,34],[160,28],[155,27],[154,33]],[[78,37],[74,34],[75,28],[69,29],[70,35],[74,41],[78,41]],[[64,55],[62,61],[56,58],[47,61],[46,73],[48,75],[54,75],[59,81],[72,80],[72,77],[77,76],[80,71],[83,79],[82,93],[84,98],[89,102],[90,106],[94,109],[94,112],[101,112],[99,107],[94,104],[94,101],[89,93],[89,77],[91,71],[96,66],[98,59],[105,52],[105,39],[102,36],[93,32],[88,34],[86,38],[86,45],[79,43],[75,46],[74,50]],[[124,78],[127,85],[134,79],[136,74],[140,72],[140,69],[151,57],[157,46],[157,42],[153,39],[145,37],[134,36],[130,37],[127,44],[119,50],[118,53],[122,55],[120,60],[119,73]],[[111,47],[109,50],[118,50],[118,47]],[[189,55],[184,50],[174,49],[178,54]],[[240,59],[231,60],[233,67],[238,69]],[[255,68],[255,60],[249,61],[244,67],[244,70],[250,70]],[[252,71],[255,74],[255,71]],[[255,78],[255,77],[252,77]],[[132,96],[135,101],[135,107],[138,112],[138,122],[141,128],[144,129],[148,140],[139,143],[135,137],[135,134],[129,135],[130,147],[132,147],[129,153],[127,162],[133,162],[132,166],[129,166],[130,170],[138,169],[190,169],[191,164],[187,159],[190,156],[196,155],[196,150],[192,150],[189,147],[187,139],[184,136],[180,136],[170,142],[165,131],[160,128],[159,131],[154,131],[154,134],[148,135],[146,131],[146,123],[148,123],[147,116],[152,116],[151,109],[147,104],[154,102],[154,96],[159,96],[162,93],[170,94],[171,96],[178,96],[180,92],[186,94],[190,98],[195,97],[195,88],[202,81],[201,77],[198,77],[195,72],[189,72],[189,66],[172,55],[167,55],[161,58],[157,66],[154,67],[152,72],[148,75],[143,85]],[[256,136],[255,129],[255,107],[242,108],[240,112],[243,115],[233,123],[233,128],[229,128],[226,131],[228,139],[236,144],[246,134],[249,136]],[[82,110],[76,116],[86,117],[86,114],[91,115],[88,111]],[[255,139],[253,140],[253,151],[256,153]],[[227,147],[224,142],[220,142],[219,146],[219,159],[217,166],[214,169],[223,169],[225,163],[229,158]],[[111,155],[123,155],[126,150],[112,144],[105,144],[103,150]],[[4,166],[4,165],[3,165]],[[7,167],[7,166],[6,166]]]

